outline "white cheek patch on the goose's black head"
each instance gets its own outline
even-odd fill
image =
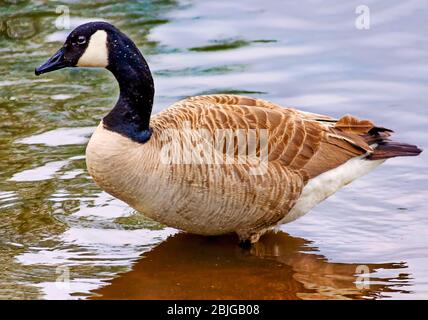
[[[107,67],[107,33],[104,30],[95,32],[89,40],[88,47],[77,61],[78,67]]]

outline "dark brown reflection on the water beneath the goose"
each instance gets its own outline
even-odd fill
[[[367,264],[370,288],[358,289],[359,264],[329,262],[316,251],[284,232],[266,234],[250,250],[239,248],[234,236],[179,233],[94,291],[94,299],[375,299],[407,293],[404,263]],[[379,269],[394,277],[377,277]]]

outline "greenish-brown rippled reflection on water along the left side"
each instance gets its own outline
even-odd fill
[[[55,264],[23,265],[16,257],[34,247],[61,248],[58,236],[70,227],[160,228],[142,215],[112,220],[71,216],[82,205],[94,207],[100,193],[87,176],[84,159],[70,159],[84,155],[85,146],[16,143],[56,128],[96,126],[116,99],[114,78],[104,70],[70,69],[43,78],[34,75],[34,68],[60,45],[47,41],[49,36],[68,33],[55,27],[58,5],[68,6],[72,27],[84,19],[108,20],[150,55],[161,48],[148,41],[147,34],[153,26],[168,22],[161,13],[176,3],[0,1],[0,298],[41,297],[38,287],[29,284],[55,281]],[[37,179],[31,177],[32,169],[56,161],[65,164],[46,179],[13,181],[24,170],[29,170],[25,171],[27,180]],[[77,175],[67,178],[69,172]],[[68,250],[85,249],[75,245]],[[75,277],[90,279],[94,274],[103,278],[103,274],[120,272],[124,266],[76,263],[70,268]]]

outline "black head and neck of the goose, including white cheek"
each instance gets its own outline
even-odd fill
[[[104,126],[137,142],[151,135],[153,78],[134,42],[107,22],[89,22],[74,29],[63,46],[35,74],[67,67],[106,68],[119,83],[120,96],[113,110],[103,118]]]

